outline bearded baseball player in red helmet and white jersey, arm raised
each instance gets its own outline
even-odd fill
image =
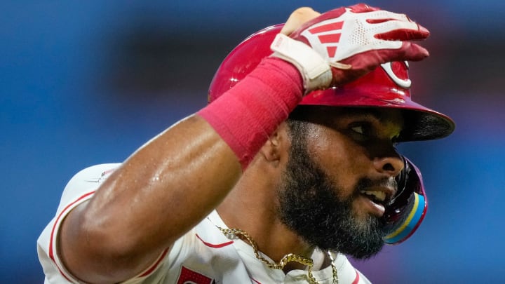
[[[405,241],[426,213],[395,144],[454,130],[410,97],[427,36],[358,4],[248,37],[208,106],[72,177],[38,240],[46,283],[369,283],[345,255]]]

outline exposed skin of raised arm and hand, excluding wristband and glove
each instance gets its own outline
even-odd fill
[[[302,8],[286,25],[295,29],[317,15]],[[240,176],[229,146],[205,120],[190,116],[135,151],[69,213],[60,257],[87,283],[131,278],[216,208]]]

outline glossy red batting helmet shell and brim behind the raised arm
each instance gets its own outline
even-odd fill
[[[262,29],[231,50],[210,83],[209,102],[235,86],[263,58],[271,55],[270,44],[282,26]],[[454,121],[448,116],[411,100],[407,62],[389,62],[344,86],[312,91],[299,105],[403,109],[405,128],[398,142],[437,139],[454,131]]]

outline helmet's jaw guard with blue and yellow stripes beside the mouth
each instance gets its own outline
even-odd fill
[[[408,158],[402,158],[404,168],[396,177],[398,192],[383,217],[383,239],[389,244],[402,243],[414,234],[428,209],[421,172]]]

